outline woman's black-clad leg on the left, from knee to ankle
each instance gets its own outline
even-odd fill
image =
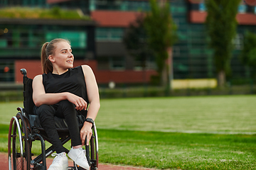
[[[35,108],[34,113],[36,113],[36,115],[39,115],[41,125],[46,131],[46,134],[49,137],[50,142],[53,144],[53,147],[55,148],[57,154],[65,152],[65,149],[60,142],[60,138],[55,127],[54,115],[56,111],[53,106],[41,105]]]

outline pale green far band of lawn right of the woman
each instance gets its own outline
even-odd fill
[[[256,96],[102,100],[97,127],[165,132],[256,132]]]

